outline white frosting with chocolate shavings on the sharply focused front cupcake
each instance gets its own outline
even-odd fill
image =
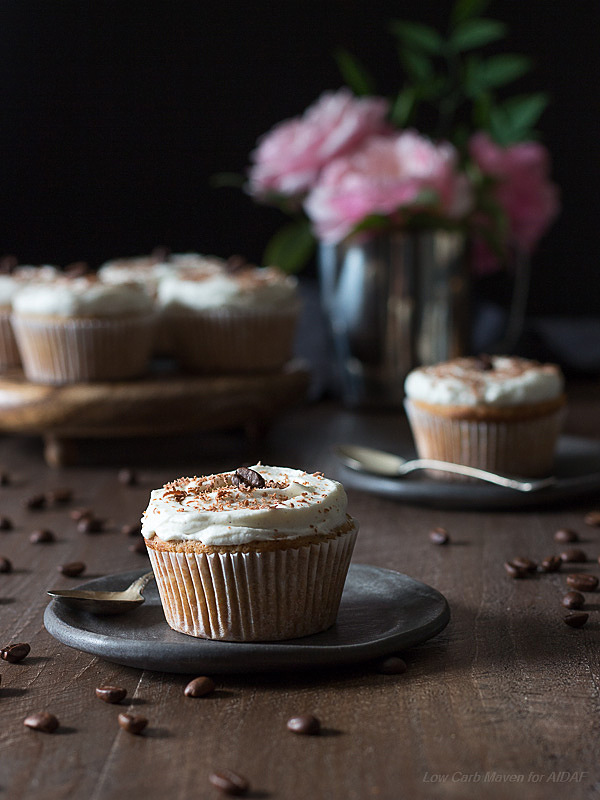
[[[343,486],[320,472],[257,464],[156,489],[142,535],[219,546],[328,534],[346,523],[346,505]]]

